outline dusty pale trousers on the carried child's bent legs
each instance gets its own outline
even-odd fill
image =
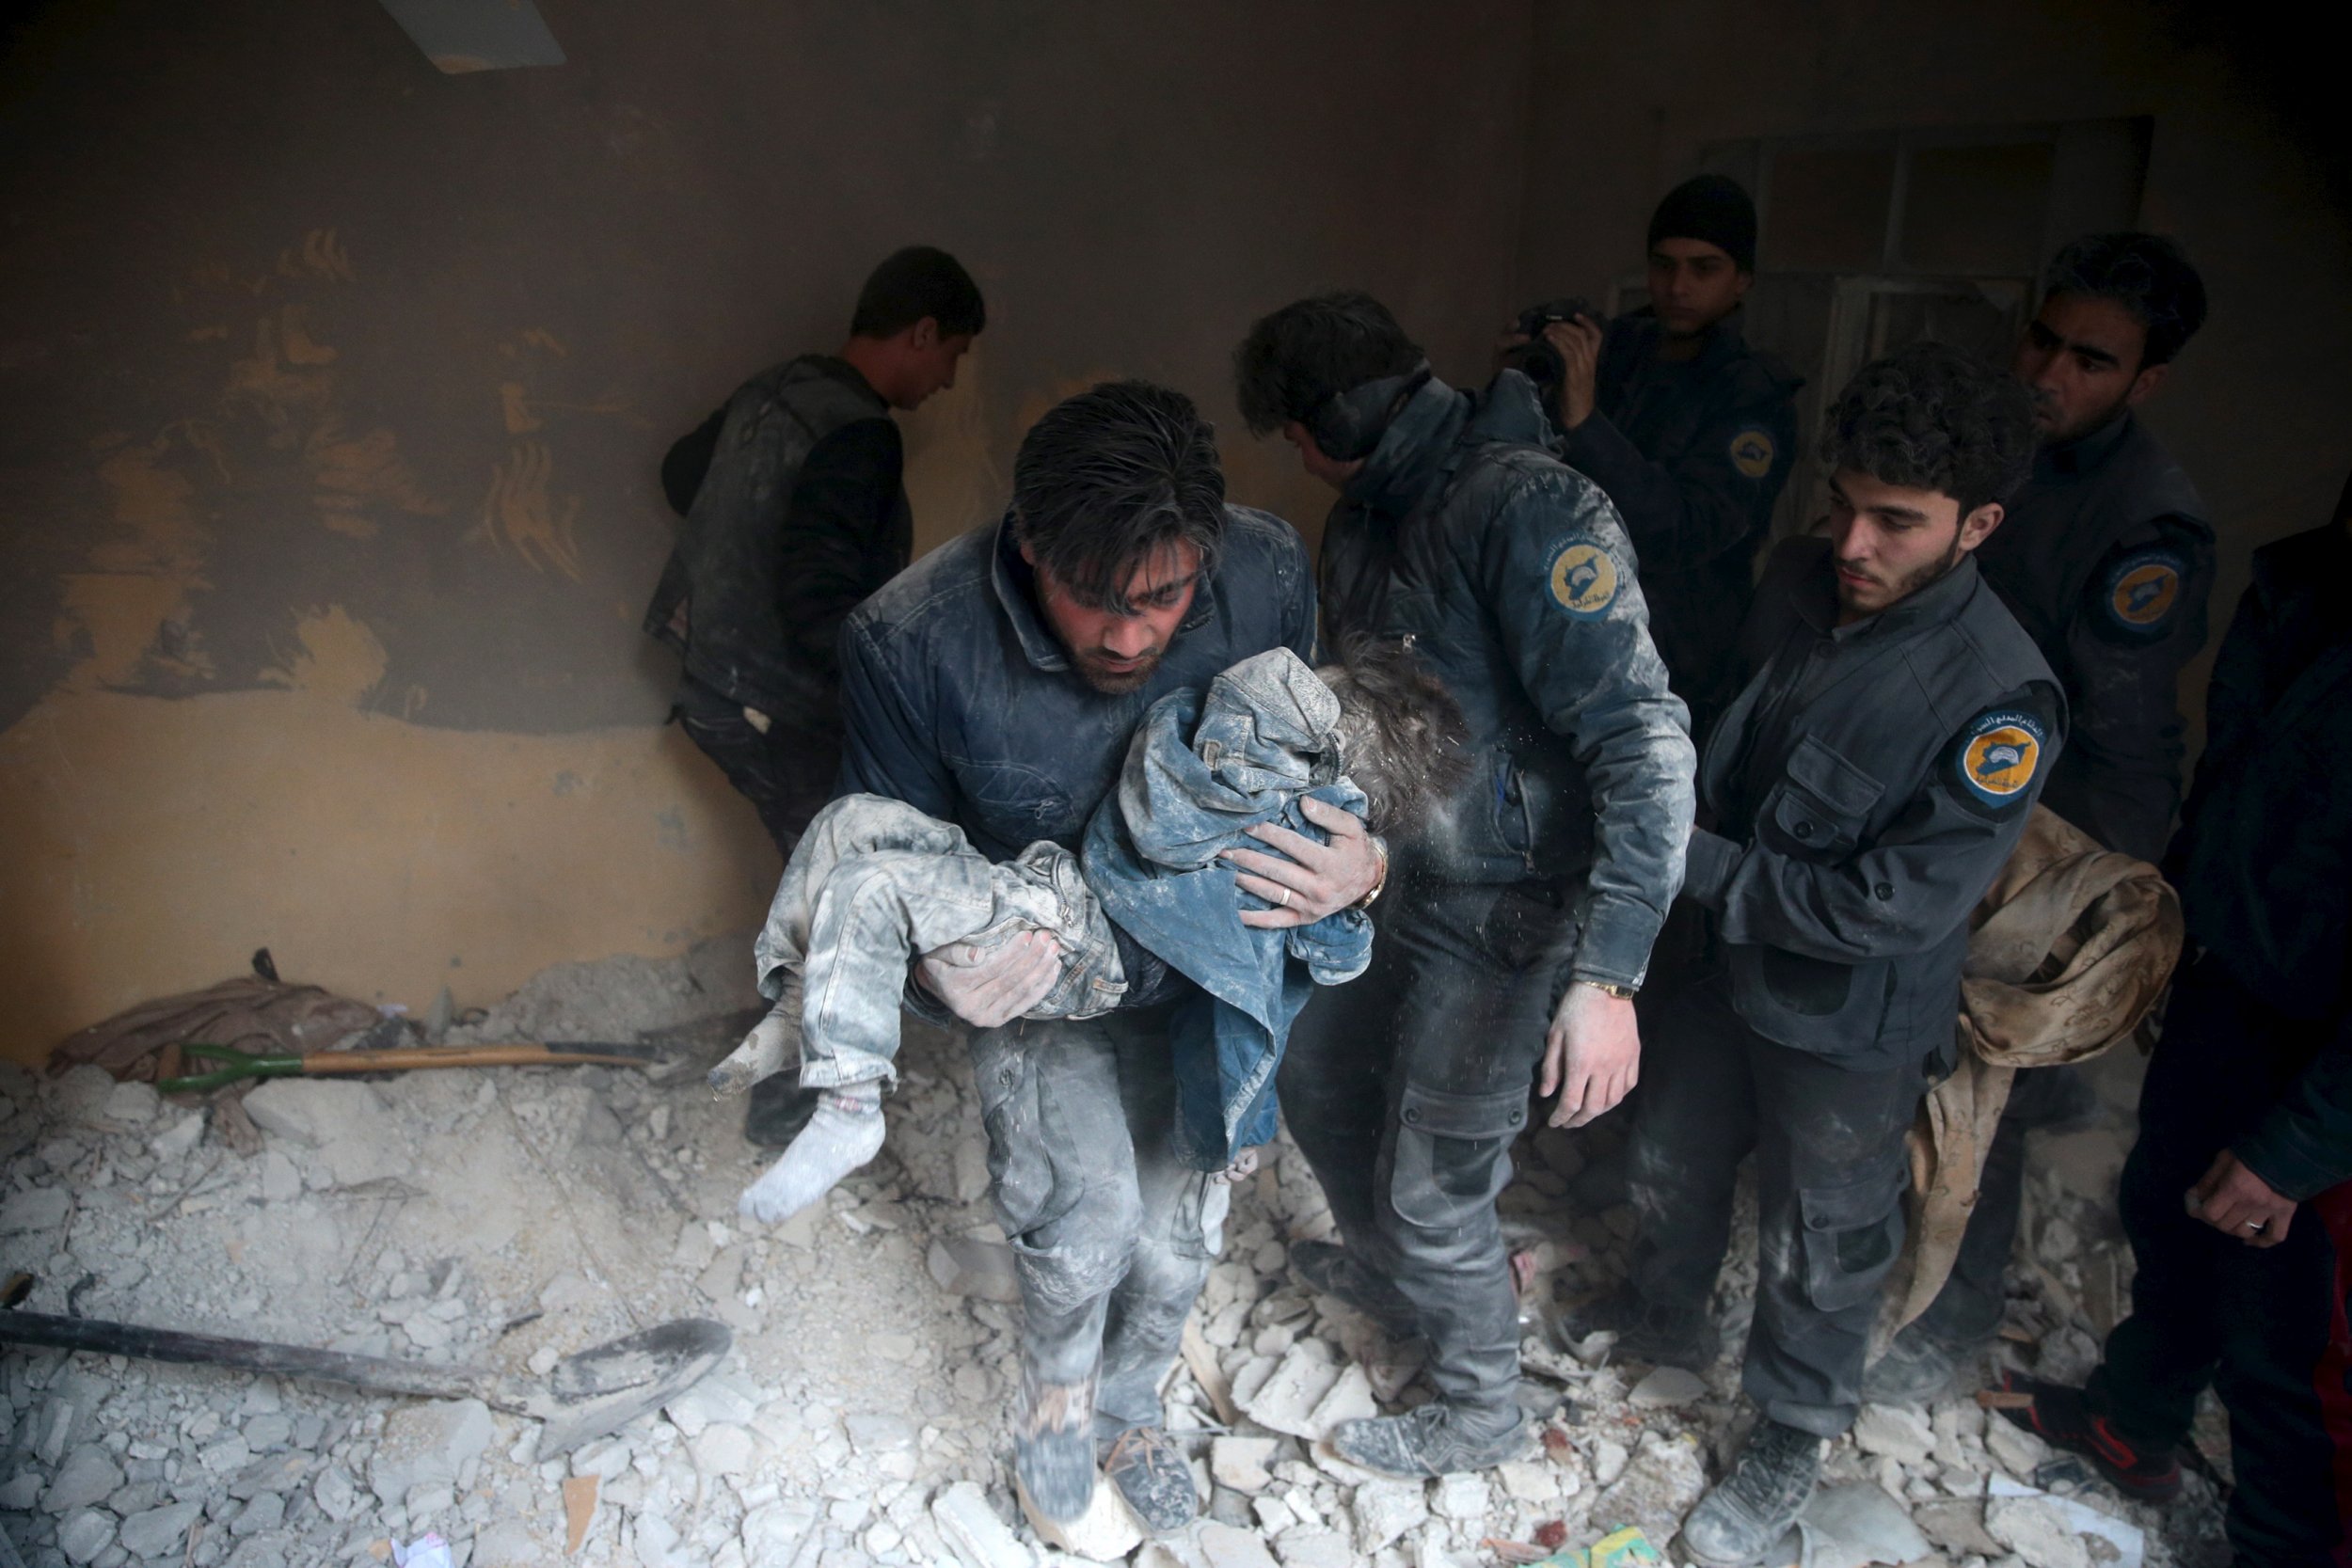
[[[1025,1018],[1094,1018],[1127,994],[1110,922],[1068,849],[1040,842],[993,863],[955,823],[844,795],[793,849],[753,961],[769,1001],[802,978],[800,1081],[840,1088],[898,1079],[898,1004],[920,954],[1023,931],[1061,943],[1061,978]]]

